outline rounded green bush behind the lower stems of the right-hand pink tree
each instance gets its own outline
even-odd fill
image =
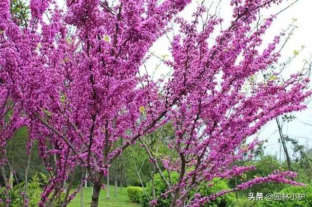
[[[164,176],[166,178],[168,178],[168,172],[164,171],[163,172]],[[178,180],[178,173],[177,172],[171,172],[170,173],[170,178],[172,183],[176,183]],[[162,181],[161,177],[159,174],[156,174],[154,176],[154,183],[155,183],[155,194],[156,197],[158,197],[161,193],[164,193],[166,191],[166,184]],[[198,190],[197,193],[200,193],[202,196],[209,196],[212,193],[215,192],[219,192],[223,189],[229,189],[227,182],[224,180],[220,180],[218,182],[215,182],[215,180],[213,181],[213,183],[215,183],[214,186],[212,187],[208,187],[207,183],[202,183],[200,185],[200,188]],[[141,194],[141,205],[142,207],[149,207],[149,202],[148,200],[152,200],[153,196],[152,196],[152,182],[148,182],[146,184],[146,193],[148,198],[146,197],[145,193],[142,192]],[[195,194],[195,191],[191,191],[190,192],[190,197],[193,196]],[[209,202],[208,204],[205,205],[205,207],[233,207],[234,206],[234,200],[235,200],[235,196],[233,193],[229,193],[226,194],[222,197],[218,197],[216,198],[215,201]],[[170,207],[171,204],[171,199],[170,196],[168,196],[167,198],[161,197],[158,202],[156,207]]]

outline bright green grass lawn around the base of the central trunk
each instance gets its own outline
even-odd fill
[[[83,207],[90,207],[91,203],[91,187],[83,188]],[[99,195],[98,207],[140,207],[141,205],[132,203],[127,196],[127,188],[118,187],[117,196],[114,196],[114,186],[110,186],[110,198],[106,199],[106,189],[101,190]],[[76,195],[74,200],[68,207],[80,207],[80,193]]]

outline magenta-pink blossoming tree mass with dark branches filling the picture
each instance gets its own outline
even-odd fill
[[[281,0],[231,0],[231,25],[213,44],[208,39],[222,19],[207,16],[200,24],[207,12],[204,6],[198,7],[190,23],[176,17],[189,2],[68,0],[62,10],[51,0],[31,0],[31,18],[22,17],[23,23],[17,24],[10,2],[0,1],[3,113],[15,104],[11,121],[1,116],[1,153],[5,155],[2,143],[10,138],[6,130],[27,125],[28,149],[37,140],[50,174],[40,207],[56,201],[66,206],[74,198],[78,190],[69,194],[69,178],[76,166],[88,170],[86,179],[94,185],[91,207],[97,207],[110,164],[136,141],[166,183],[168,190],[162,196],[171,196],[172,207],[183,206],[187,200],[188,206],[201,206],[229,191],[210,197],[195,194],[190,199],[190,191],[199,183],[253,169],[237,162],[258,144],[255,140],[242,146],[248,136],[282,113],[305,108],[301,103],[311,93],[306,91],[308,79],[302,73],[285,81],[274,73],[274,78],[254,82],[252,92],[243,89],[250,77],[265,73],[277,61],[282,34],[262,52],[259,49],[274,17],[258,22],[256,29],[251,24],[260,9]],[[139,68],[149,58],[149,48],[169,30],[173,19],[180,32],[171,44],[173,59],[165,62],[173,73],[168,80],[141,75]],[[176,184],[162,175],[141,139],[168,121],[176,129],[169,147],[178,157],[177,164],[171,165],[172,159],[164,162],[167,169],[175,166],[172,170],[179,172]],[[298,184],[287,179],[294,176],[276,172],[233,190],[263,182]],[[27,206],[27,196],[24,202]]]

